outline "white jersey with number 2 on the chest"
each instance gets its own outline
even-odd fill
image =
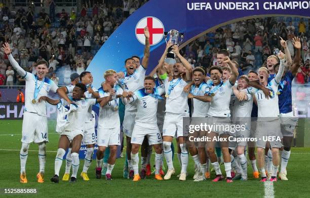
[[[156,97],[143,94],[144,89],[138,90],[134,93],[134,100],[137,100],[137,115],[136,115],[136,124],[140,126],[148,125],[157,125],[157,106],[158,99]],[[165,93],[165,90],[162,87],[156,89],[156,94],[162,95]]]

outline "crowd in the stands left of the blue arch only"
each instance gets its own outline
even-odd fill
[[[43,2],[49,7],[40,12],[35,12],[36,4],[31,2],[26,10],[0,4],[0,45],[8,42],[14,58],[26,71],[35,73],[36,62],[48,61],[48,77],[56,85],[68,85],[70,74],[85,71],[111,33],[146,1],[82,1],[79,13],[74,7],[69,13],[64,9],[55,13],[55,1]],[[0,52],[2,85],[25,82]]]

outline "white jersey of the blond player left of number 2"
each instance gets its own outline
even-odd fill
[[[123,89],[119,85],[114,89],[116,89],[117,95],[123,94]],[[98,91],[100,98],[110,95],[110,93],[104,92],[102,87]],[[104,107],[100,106],[98,128],[112,129],[121,125],[118,107],[119,98],[109,101]]]

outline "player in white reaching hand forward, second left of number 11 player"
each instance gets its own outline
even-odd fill
[[[250,92],[247,90],[249,79],[246,75],[240,76],[238,80],[237,88],[234,86],[232,90],[236,97],[233,101],[232,105],[232,123],[245,126],[244,130],[236,130],[237,138],[245,138],[245,140],[241,140],[240,142],[229,142],[229,147],[232,149],[237,148],[237,154],[239,157],[240,165],[242,167],[242,177],[241,180],[247,180],[247,159],[244,154],[245,148],[247,146],[247,138],[250,137],[250,127],[251,127],[251,111],[253,105],[253,97]],[[232,145],[232,146],[231,146]],[[236,176],[237,177],[237,176]]]

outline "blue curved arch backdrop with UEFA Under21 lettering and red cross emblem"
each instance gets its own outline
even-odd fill
[[[158,32],[176,29],[184,32],[181,47],[192,41],[207,30],[228,24],[231,20],[257,15],[268,16],[310,16],[309,1],[205,1],[205,0],[150,0],[136,10],[120,27],[115,30],[100,48],[88,70],[94,76],[94,86],[103,82],[106,69],[124,71],[124,61],[133,55],[142,58],[144,45],[138,40],[141,33],[139,21],[148,24],[153,33],[150,48],[149,73],[158,63],[166,42]],[[147,20],[141,20],[148,17]],[[152,18],[154,17],[154,18]],[[156,19],[160,20],[158,22]],[[163,28],[161,27],[163,26]],[[164,30],[163,30],[164,29]],[[137,34],[136,34],[137,32]],[[158,44],[156,44],[158,42]]]

